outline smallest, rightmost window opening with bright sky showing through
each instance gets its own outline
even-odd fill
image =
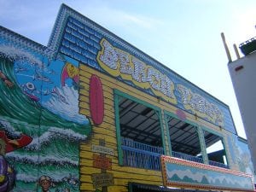
[[[204,131],[209,165],[228,168],[222,137],[209,131]]]

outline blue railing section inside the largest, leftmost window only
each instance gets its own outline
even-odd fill
[[[122,138],[122,149],[124,166],[160,171],[160,155],[164,154],[163,148]]]

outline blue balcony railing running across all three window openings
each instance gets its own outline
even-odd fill
[[[135,142],[129,138],[122,137],[123,163],[124,166],[132,166],[143,169],[160,171],[160,155],[164,149],[144,143]],[[201,157],[172,151],[172,156],[183,160],[204,163]],[[216,161],[209,160],[209,165],[229,169],[229,166]]]

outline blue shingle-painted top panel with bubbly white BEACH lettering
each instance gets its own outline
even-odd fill
[[[48,46],[236,134],[223,102],[67,7],[57,17]]]

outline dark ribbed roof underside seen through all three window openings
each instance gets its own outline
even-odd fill
[[[172,151],[197,155],[201,146],[195,125],[181,119],[167,117]],[[153,108],[119,96],[119,124],[121,137],[161,147],[160,119]],[[205,132],[207,147],[219,140],[218,136]]]

